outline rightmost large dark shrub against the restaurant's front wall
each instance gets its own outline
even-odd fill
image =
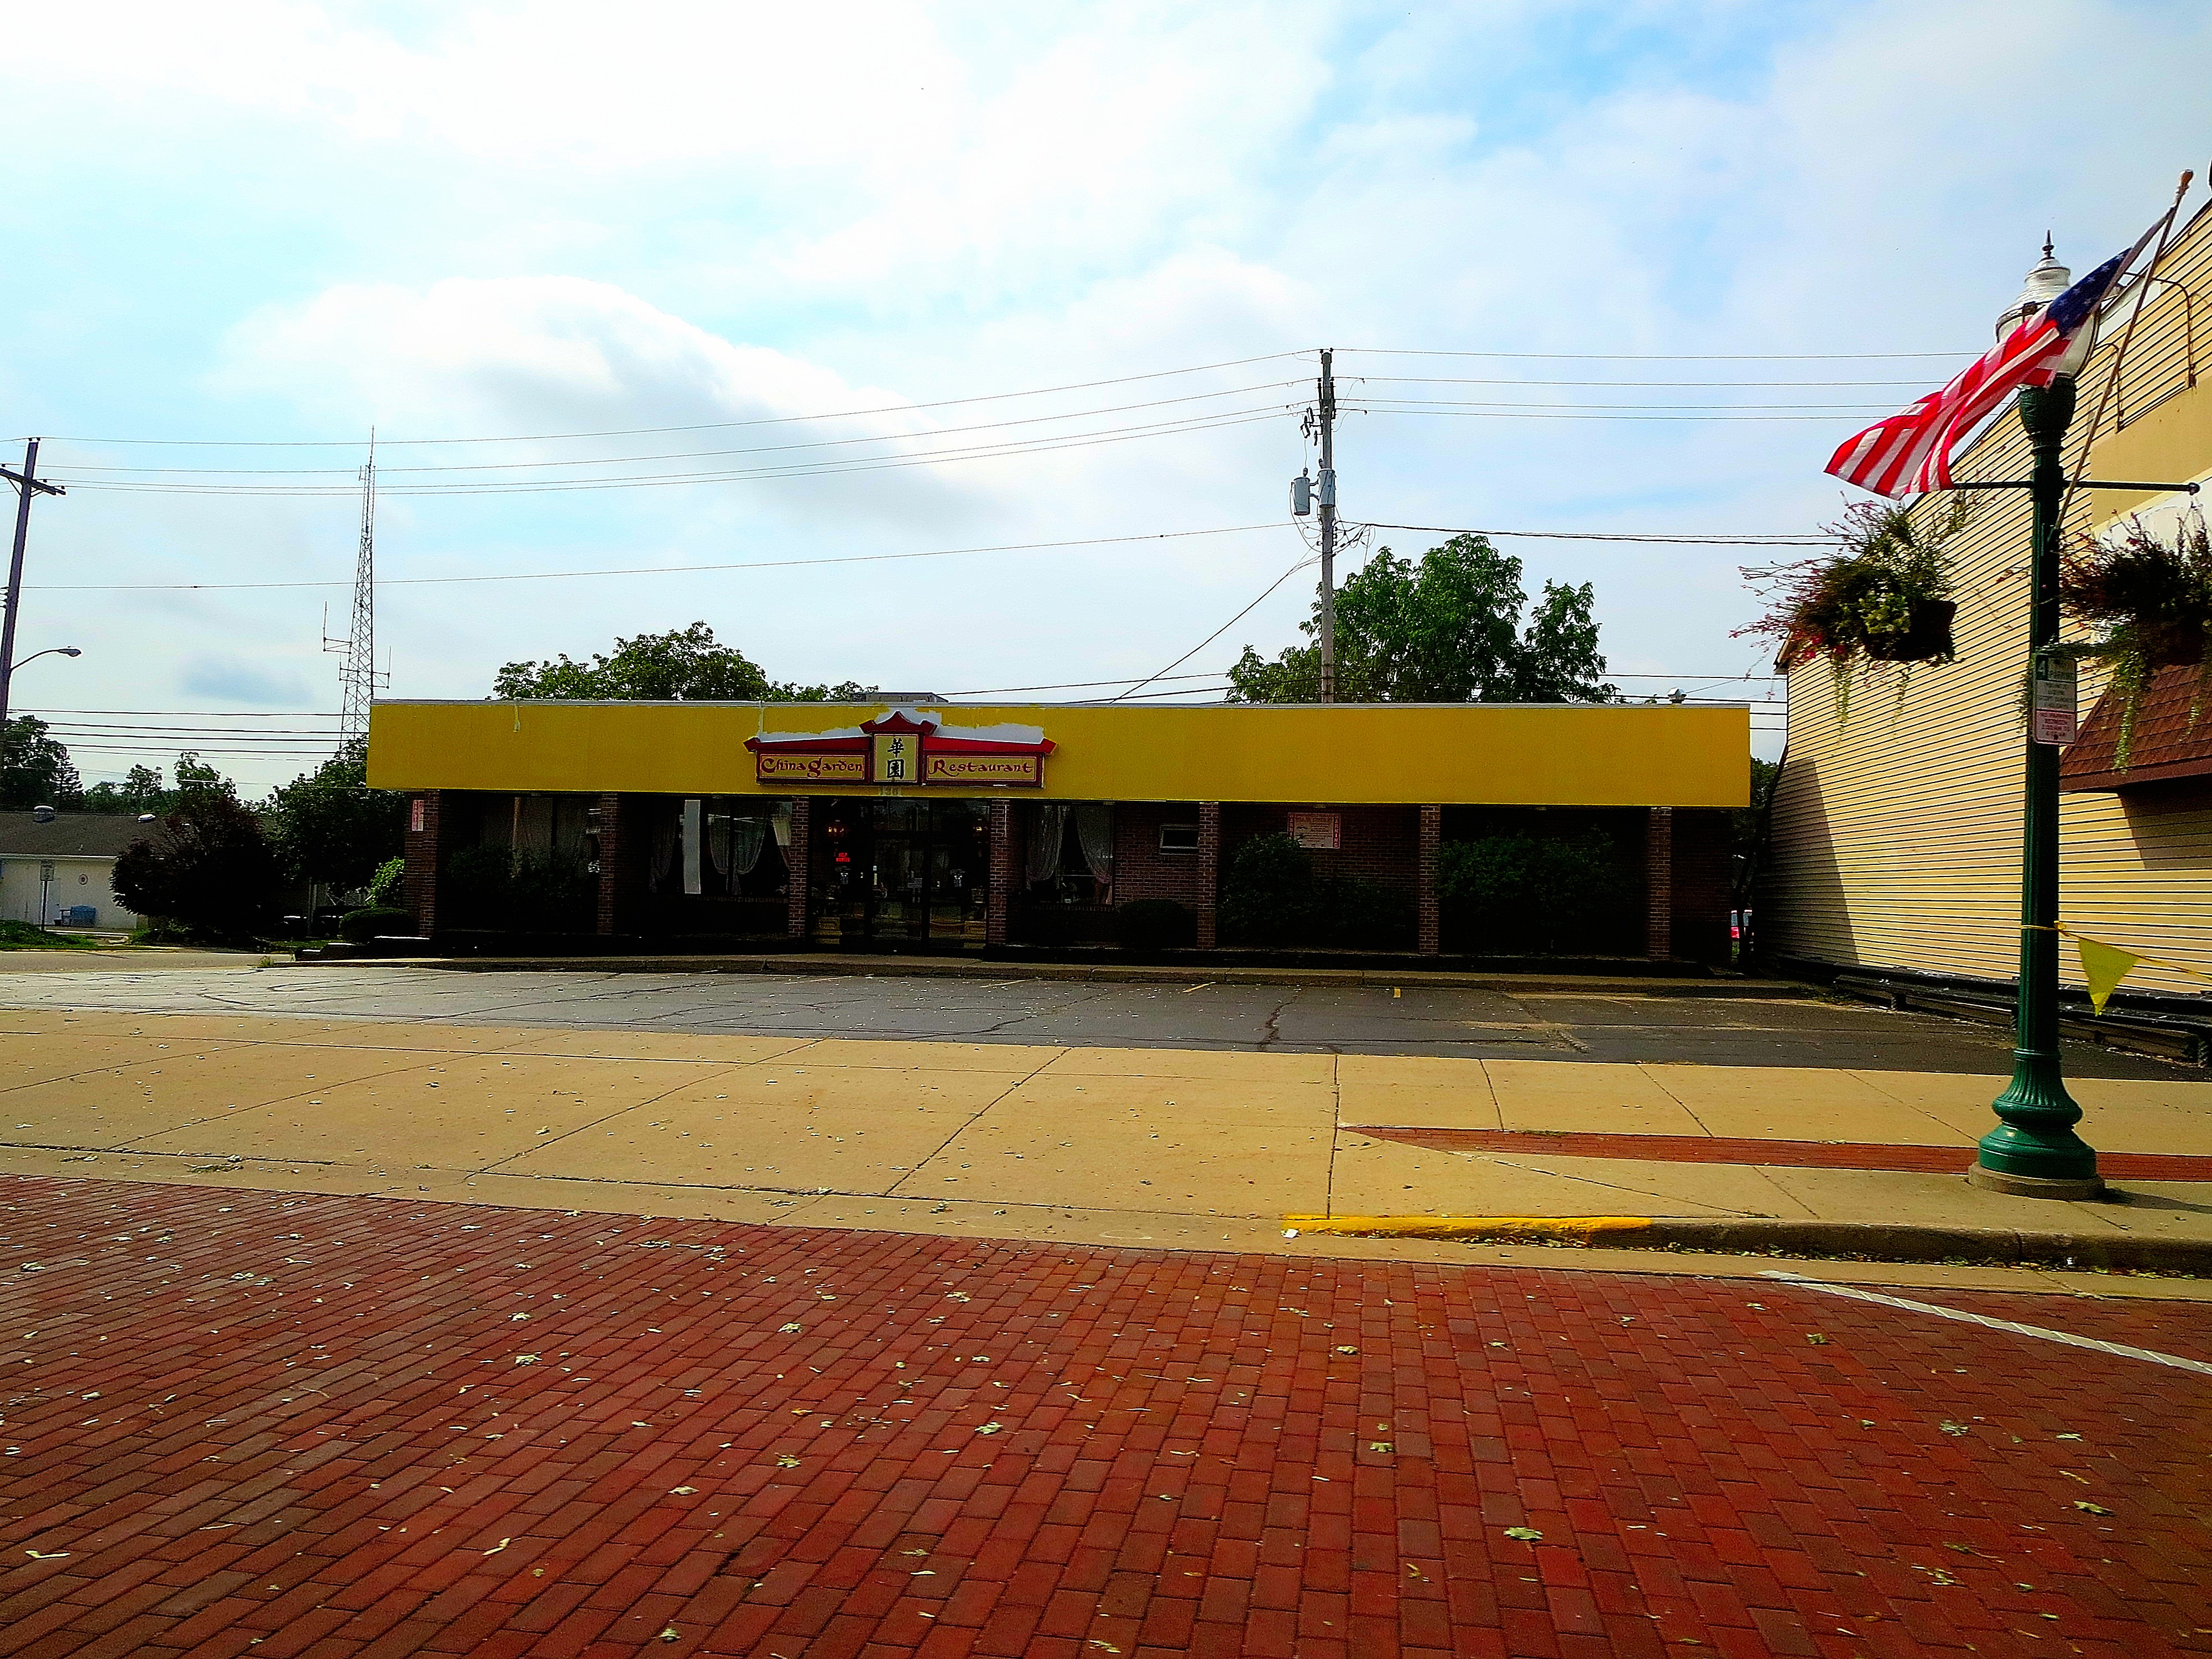
[[[1460,949],[1599,953],[1619,945],[1635,894],[1597,830],[1451,841],[1438,856],[1438,900]]]

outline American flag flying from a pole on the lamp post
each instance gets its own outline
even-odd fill
[[[2152,226],[2157,230],[2157,226]],[[1942,392],[1929,392],[1905,414],[1889,416],[1854,438],[1827,460],[1827,471],[1878,495],[1920,495],[1951,487],[1951,447],[1973,431],[1982,416],[2024,385],[2051,385],[2053,367],[2075,334],[2088,325],[2097,303],[2150,241],[2112,254],[2044,310],[2024,316],[1989,356],[1964,369]]]

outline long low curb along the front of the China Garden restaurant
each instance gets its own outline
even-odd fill
[[[1455,973],[1389,969],[1124,967],[1115,962],[969,962],[927,956],[343,956],[274,967],[394,967],[453,973],[805,973],[922,980],[1086,980],[1093,984],[1349,984],[1666,998],[1818,998],[1792,980],[1692,980],[1595,973]]]

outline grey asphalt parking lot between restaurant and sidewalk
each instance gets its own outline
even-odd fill
[[[1506,993],[1405,987],[1095,984],[885,973],[361,969],[9,973],[0,1006],[290,1013],[502,1026],[883,1037],[1055,1046],[1259,1048],[1473,1060],[2011,1071],[2011,1033],[1820,998]],[[2079,1077],[2190,1068],[2068,1042]]]

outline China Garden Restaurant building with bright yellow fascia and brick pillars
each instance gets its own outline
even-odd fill
[[[606,947],[1086,947],[1168,900],[1221,945],[1223,860],[1290,834],[1321,876],[1447,940],[1460,834],[1601,825],[1641,883],[1637,953],[1728,951],[1750,714],[1681,706],[956,706],[383,701],[369,783],[409,801],[416,931]],[[504,887],[502,887],[504,883]],[[504,894],[504,900],[502,900]],[[515,900],[522,902],[522,900]],[[1597,953],[1597,951],[1593,951]]]

